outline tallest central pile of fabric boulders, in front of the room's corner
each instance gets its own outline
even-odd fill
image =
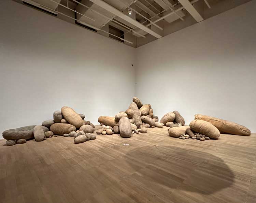
[[[129,138],[134,133],[146,133],[147,128],[154,128],[158,117],[153,115],[151,105],[143,105],[137,97],[133,97],[132,101],[126,111],[119,112],[114,117],[100,116],[98,122],[102,128],[98,129],[96,133],[102,135],[114,133]]]

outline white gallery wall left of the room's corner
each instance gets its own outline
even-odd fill
[[[10,0],[0,15],[0,139],[64,105],[94,124],[128,108],[134,48]]]

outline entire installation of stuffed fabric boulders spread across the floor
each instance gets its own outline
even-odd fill
[[[251,131],[242,125],[201,114],[196,114],[195,120],[192,120],[189,126],[185,126],[185,120],[178,111],[166,113],[159,121],[158,116],[153,114],[151,104],[143,105],[137,97],[132,98],[132,103],[126,111],[119,112],[114,117],[100,116],[98,126],[84,119],[84,114],[77,114],[72,108],[63,106],[61,111],[53,113],[53,119],[43,121],[42,125],[5,130],[3,138],[7,140],[7,146],[23,144],[31,139],[40,142],[58,135],[74,137],[74,143],[79,144],[95,140],[96,135],[92,134],[95,130],[98,135],[114,133],[129,138],[134,133],[146,133],[148,128],[162,128],[163,126],[170,127],[168,128],[169,136],[183,140],[189,138],[200,141],[218,139],[221,133],[251,134]]]

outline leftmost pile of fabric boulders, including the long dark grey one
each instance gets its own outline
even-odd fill
[[[47,138],[57,137],[57,135],[74,137],[75,144],[95,140],[96,135],[91,134],[95,126],[84,118],[84,114],[77,114],[72,108],[63,106],[61,111],[53,113],[53,119],[43,121],[41,126],[25,126],[6,130],[3,132],[3,137],[7,140],[7,146],[22,144],[33,138],[40,142]]]

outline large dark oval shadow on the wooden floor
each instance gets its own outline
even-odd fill
[[[191,146],[190,146],[191,147]],[[141,167],[130,177],[148,190],[173,189],[212,194],[231,186],[234,174],[225,161],[194,149],[154,145],[132,150],[126,160]]]

